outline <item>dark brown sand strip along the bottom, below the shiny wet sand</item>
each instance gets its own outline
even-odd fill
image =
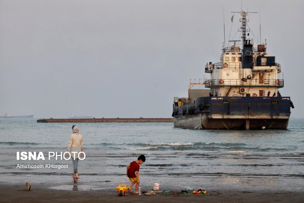
[[[181,194],[180,191],[170,191],[167,194],[157,192],[156,195],[135,195],[126,193],[119,197],[113,189],[75,189],[75,190],[57,190],[50,189],[50,184],[32,184],[30,191],[25,191],[23,184],[5,184],[0,183],[5,188],[5,194],[2,194],[1,202],[303,202],[302,192],[291,191],[233,191],[233,190],[213,190],[207,191],[207,194],[193,195]],[[84,185],[85,186],[85,185]],[[81,188],[73,186],[74,188]],[[84,187],[85,188],[85,187]]]

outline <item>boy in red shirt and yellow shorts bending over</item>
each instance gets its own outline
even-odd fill
[[[139,165],[143,164],[146,161],[146,157],[144,155],[140,155],[137,159],[137,161],[131,162],[127,166],[127,177],[129,177],[129,180],[131,181],[130,186],[128,187],[128,191],[132,193],[131,187],[136,183],[135,186],[135,194],[138,194],[138,186],[140,184],[139,181]],[[135,175],[136,172],[136,175]]]

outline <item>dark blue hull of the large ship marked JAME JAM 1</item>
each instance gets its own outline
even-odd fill
[[[173,106],[174,127],[191,129],[286,129],[290,97],[199,97]]]

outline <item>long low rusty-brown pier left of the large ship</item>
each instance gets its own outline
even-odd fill
[[[171,123],[173,118],[50,118],[37,123]]]

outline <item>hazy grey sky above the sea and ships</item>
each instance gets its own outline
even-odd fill
[[[303,118],[303,2],[242,5],[260,10],[248,24],[257,37],[260,16],[262,41],[284,72],[280,93],[295,105],[291,117]],[[240,0],[0,0],[0,114],[171,117],[189,79],[210,77],[223,23],[227,42],[240,9]]]

